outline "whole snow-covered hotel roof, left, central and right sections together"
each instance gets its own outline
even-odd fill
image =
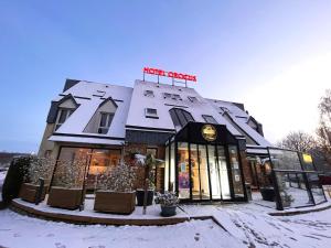
[[[180,99],[164,97],[164,94],[180,96]],[[261,134],[248,126],[249,115],[244,110],[243,105],[206,99],[193,88],[143,80],[136,80],[134,88],[77,80],[76,84],[60,94],[54,101],[68,98],[68,95],[73,97],[78,108],[54,132],[50,140],[83,142],[85,139],[86,142],[90,143],[115,144],[119,142],[118,138],[126,138],[126,129],[175,132],[169,110],[181,108],[189,111],[196,122],[206,122],[203,118],[204,115],[212,116],[217,123],[225,125],[233,136],[243,137],[244,131],[245,136],[250,137],[259,147],[270,145]],[[106,134],[86,132],[88,122],[100,104],[108,98],[117,107],[108,132]],[[147,118],[147,108],[157,109],[158,118]],[[224,112],[233,121],[225,118]],[[116,141],[114,141],[115,143],[110,141],[111,138]]]

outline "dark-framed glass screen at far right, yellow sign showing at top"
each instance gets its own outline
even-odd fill
[[[274,173],[277,209],[312,206],[325,202],[309,154],[284,149],[268,149]]]

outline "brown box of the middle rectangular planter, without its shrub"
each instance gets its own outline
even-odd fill
[[[82,188],[51,187],[47,204],[52,207],[77,209],[82,201]]]

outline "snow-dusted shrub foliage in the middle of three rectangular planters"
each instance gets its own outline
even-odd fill
[[[54,185],[67,188],[83,187],[86,166],[85,155],[75,158],[74,161],[57,161]]]

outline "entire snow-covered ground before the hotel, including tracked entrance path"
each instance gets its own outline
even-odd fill
[[[296,216],[270,216],[256,204],[182,206],[191,220],[162,227],[72,225],[0,212],[0,247],[330,247],[331,209]],[[268,208],[269,209],[269,208]]]

